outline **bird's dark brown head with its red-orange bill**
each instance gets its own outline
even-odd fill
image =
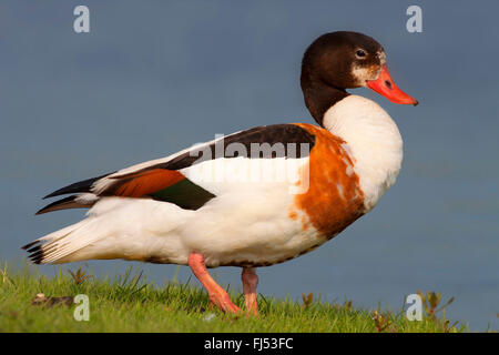
[[[339,31],[317,38],[302,61],[302,90],[314,118],[347,97],[345,89],[366,87],[401,104],[418,103],[397,88],[386,65],[386,53],[373,38]]]

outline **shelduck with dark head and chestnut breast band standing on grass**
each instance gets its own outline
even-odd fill
[[[368,88],[418,101],[391,79],[384,48],[352,31],[325,33],[302,59],[304,103],[316,124],[261,125],[54,191],[37,212],[89,209],[24,246],[37,264],[88,260],[189,265],[224,313],[258,314],[257,267],[323,245],[368,213],[395,183],[403,139]],[[242,267],[244,310],[208,268]]]

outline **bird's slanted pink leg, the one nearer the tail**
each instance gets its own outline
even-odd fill
[[[210,276],[206,266],[204,264],[203,255],[198,253],[192,253],[189,255],[189,266],[203,284],[206,290],[210,301],[214,303],[223,312],[237,313],[240,308],[232,303],[228,294]]]

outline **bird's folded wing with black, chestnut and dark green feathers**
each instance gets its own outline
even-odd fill
[[[308,149],[305,152],[296,149],[299,144],[308,144]],[[242,150],[249,153],[245,156],[247,159],[299,159],[308,154],[314,144],[314,134],[296,124],[257,126],[183,150],[167,158],[149,161],[59,189],[44,199],[63,194],[73,195],[47,205],[37,214],[65,209],[91,207],[105,196],[154,199],[174,203],[185,210],[197,210],[215,197],[215,194],[189,180],[182,170],[206,161],[206,159],[237,158],[241,156]],[[267,149],[258,149],[264,145]]]

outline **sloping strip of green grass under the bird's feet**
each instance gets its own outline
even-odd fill
[[[79,284],[78,284],[79,283]],[[35,295],[86,294],[90,321],[77,322],[77,305],[33,305]],[[244,297],[230,292],[240,307]],[[210,310],[206,293],[190,283],[155,286],[131,268],[115,277],[71,275],[62,267],[51,277],[31,266],[0,268],[0,332],[467,332],[467,326],[431,315],[409,322],[401,312],[357,310],[352,302],[326,303],[258,296],[259,316]],[[435,307],[434,307],[435,308]],[[376,311],[378,311],[376,313]]]

